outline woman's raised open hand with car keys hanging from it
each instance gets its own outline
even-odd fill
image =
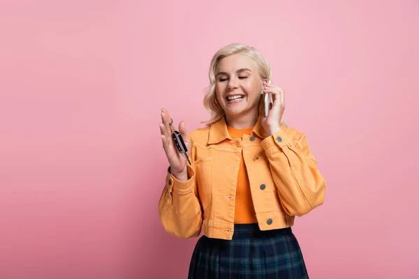
[[[186,156],[177,151],[175,143],[172,140],[173,131],[170,128],[170,122],[172,119],[170,118],[169,112],[163,108],[161,109],[161,121],[162,123],[159,124],[161,141],[163,142],[163,149],[170,164],[170,173],[179,181],[187,181],[188,174],[186,172]],[[179,123],[179,133],[182,135],[186,149],[188,149],[189,153],[191,149],[191,142],[189,142],[189,138],[186,133],[186,125],[183,121]]]

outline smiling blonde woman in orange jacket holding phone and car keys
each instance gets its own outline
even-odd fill
[[[162,109],[170,168],[159,201],[166,232],[200,237],[189,278],[309,278],[291,226],[323,204],[325,179],[303,133],[282,122],[284,91],[269,84],[270,65],[252,47],[214,55],[204,99],[206,128],[186,134],[188,159],[172,142]],[[265,117],[263,94],[274,100]]]

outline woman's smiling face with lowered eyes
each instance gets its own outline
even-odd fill
[[[258,65],[246,54],[233,54],[216,67],[216,97],[227,117],[258,115],[263,79]]]

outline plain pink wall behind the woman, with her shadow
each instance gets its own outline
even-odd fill
[[[419,2],[317,2],[1,1],[0,278],[186,278],[159,112],[200,127],[233,42],[270,61],[328,180],[294,227],[311,278],[419,278]]]

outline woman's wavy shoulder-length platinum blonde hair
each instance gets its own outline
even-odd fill
[[[212,57],[212,61],[210,64],[210,86],[207,88],[207,92],[204,97],[204,107],[210,112],[211,117],[208,121],[203,121],[206,123],[207,126],[211,126],[212,123],[215,123],[221,117],[224,116],[225,112],[219,105],[219,102],[216,98],[215,93],[215,83],[216,83],[216,67],[221,59],[228,57],[233,54],[247,54],[253,61],[256,62],[258,65],[259,75],[260,77],[265,80],[271,80],[271,67],[267,60],[260,54],[254,47],[250,47],[249,45],[244,45],[242,43],[234,43],[231,45],[226,45],[225,47],[221,48],[221,50],[217,51],[216,54]],[[259,102],[259,115],[265,113],[263,104],[263,98],[260,98]]]

